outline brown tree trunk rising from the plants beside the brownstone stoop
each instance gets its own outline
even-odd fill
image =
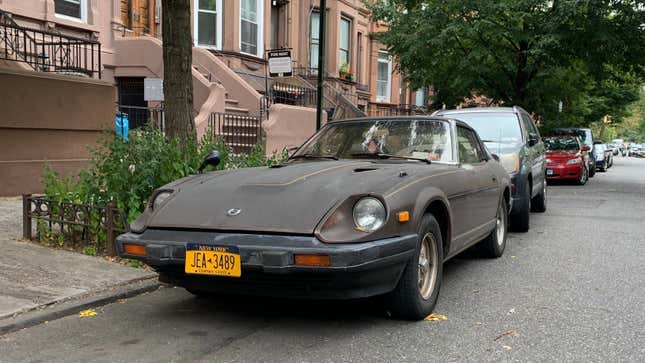
[[[166,135],[194,142],[190,0],[162,0],[161,6]]]

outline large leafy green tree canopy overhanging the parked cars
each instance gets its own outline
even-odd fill
[[[631,102],[643,79],[643,1],[379,0],[367,6],[389,26],[376,36],[412,86],[433,86],[435,107],[485,95],[551,125],[588,123]]]

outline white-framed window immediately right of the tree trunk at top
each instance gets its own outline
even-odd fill
[[[222,0],[198,0],[195,45],[222,48]]]

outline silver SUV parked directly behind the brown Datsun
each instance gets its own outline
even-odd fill
[[[490,152],[499,156],[511,177],[510,227],[516,232],[528,231],[529,212],[546,211],[547,192],[544,143],[528,112],[520,107],[482,107],[434,114],[466,122]]]

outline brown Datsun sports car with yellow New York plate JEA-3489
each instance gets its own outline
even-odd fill
[[[198,295],[385,295],[394,315],[421,319],[444,261],[476,243],[504,252],[509,177],[496,159],[457,120],[328,123],[283,164],[157,190],[119,254]]]

